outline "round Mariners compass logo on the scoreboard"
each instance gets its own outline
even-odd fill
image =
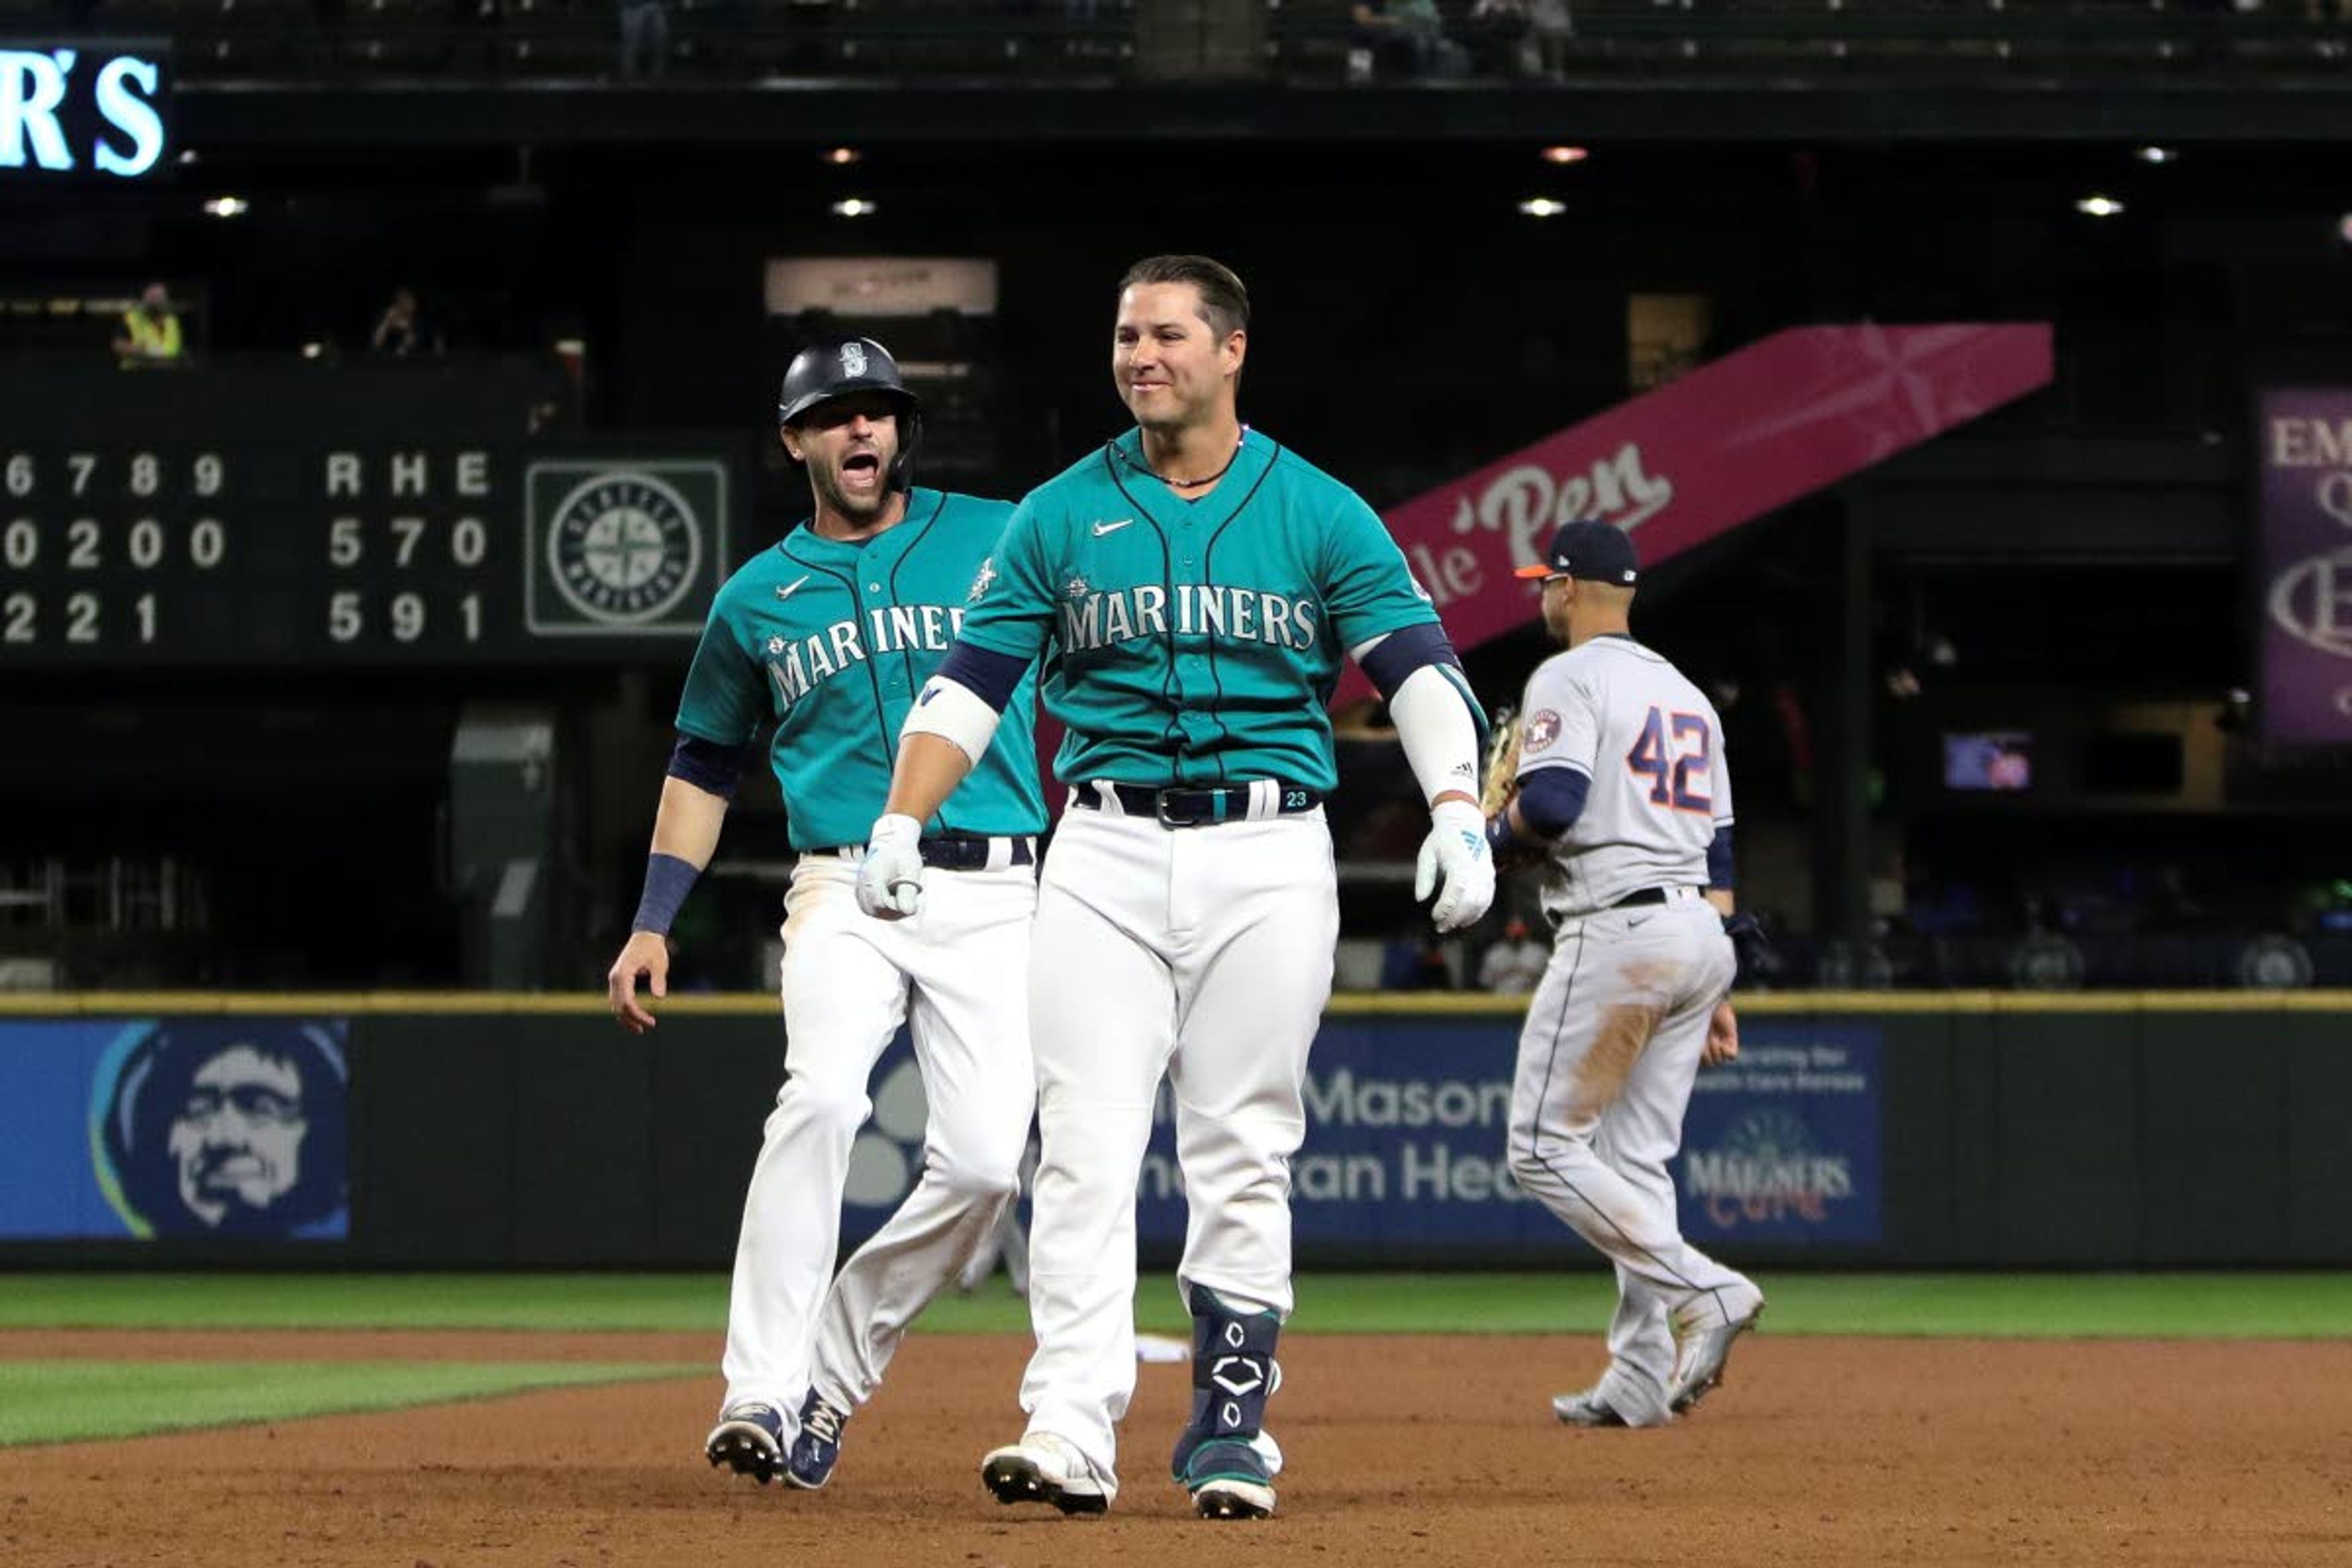
[[[612,625],[659,621],[703,564],[694,508],[668,482],[635,470],[574,487],[546,541],[557,592],[581,616]]]

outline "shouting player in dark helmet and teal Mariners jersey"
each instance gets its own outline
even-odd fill
[[[922,917],[882,926],[858,914],[858,860],[894,738],[1011,508],[908,489],[915,400],[880,343],[802,353],[779,414],[816,515],[710,607],[677,705],[644,903],[607,987],[628,1030],[654,1027],[637,976],[666,994],[663,933],[774,726],[769,762],[800,851],[783,900],[786,1081],[743,1199],[727,1396],[706,1453],[762,1483],[783,1474],[818,1488],[842,1422],[1018,1187],[1035,1070],[1028,994],[1007,976],[1028,966],[1044,799],[1033,691],[1021,689],[971,783],[910,837],[938,872]],[[826,1291],[849,1147],[873,1110],[866,1084],[901,1023],[929,1100],[922,1178]]]

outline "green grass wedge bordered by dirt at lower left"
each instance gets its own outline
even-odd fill
[[[581,1382],[687,1378],[675,1363],[0,1361],[0,1446],[397,1410]]]

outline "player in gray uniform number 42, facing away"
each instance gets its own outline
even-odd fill
[[[1649,1427],[1722,1380],[1764,1309],[1682,1239],[1665,1171],[1700,1060],[1738,1053],[1731,773],[1715,705],[1625,630],[1639,569],[1621,529],[1571,522],[1522,576],[1543,576],[1569,651],[1526,682],[1517,797],[1489,823],[1498,853],[1543,846],[1555,924],[1519,1034],[1510,1171],[1618,1276],[1609,1371],[1555,1415]]]

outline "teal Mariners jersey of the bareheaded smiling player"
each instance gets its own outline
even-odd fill
[[[1054,776],[1338,783],[1327,705],[1348,649],[1437,611],[1364,501],[1242,433],[1181,501],[1129,430],[1040,484],[974,581],[964,642],[1044,658]]]

